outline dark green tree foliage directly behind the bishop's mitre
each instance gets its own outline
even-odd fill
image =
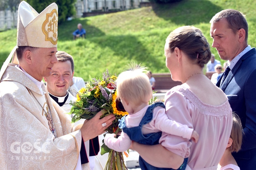
[[[58,5],[59,23],[66,21],[68,17],[75,15],[76,0],[26,0],[38,13],[42,12],[49,4],[55,2]]]

